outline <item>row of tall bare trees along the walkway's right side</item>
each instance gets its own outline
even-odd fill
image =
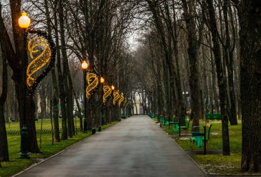
[[[242,117],[242,169],[260,171],[261,4],[229,0],[140,3],[139,19],[148,25],[135,54],[136,75],[148,110],[183,117],[191,108],[193,126],[207,111],[220,111],[223,155],[230,154],[228,123],[237,125],[237,118]],[[188,96],[191,107],[185,108]]]

